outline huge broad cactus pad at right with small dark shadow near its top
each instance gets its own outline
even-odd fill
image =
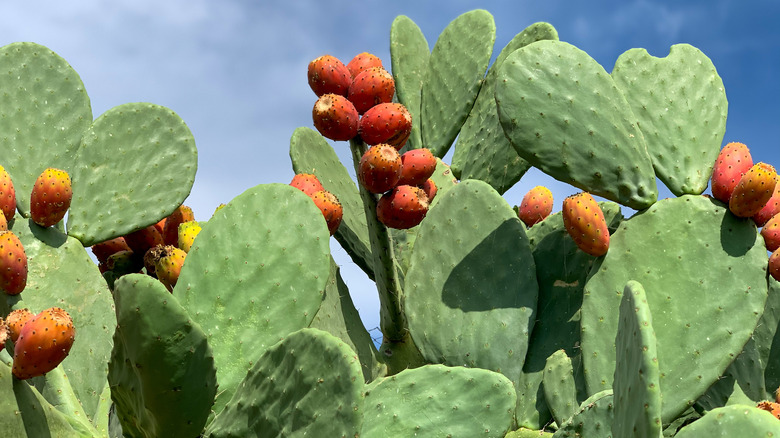
[[[707,269],[702,269],[702,260]],[[588,391],[612,386],[623,288],[640,282],[653,313],[664,423],[691,406],[742,351],[767,298],[766,249],[752,221],[704,196],[665,199],[623,221],[582,303]]]

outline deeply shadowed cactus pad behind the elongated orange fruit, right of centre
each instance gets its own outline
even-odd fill
[[[599,207],[610,230],[623,220],[620,206],[614,202],[600,202]],[[522,399],[517,421],[520,425],[539,429],[549,420],[549,413],[541,393],[542,371],[548,358],[564,349],[569,357],[577,358],[575,377],[582,388],[577,403],[585,399],[584,377],[579,359],[580,307],[582,290],[596,257],[577,248],[566,228],[560,212],[548,216],[527,231],[528,241],[536,264],[539,299],[534,329],[518,385],[518,399]]]

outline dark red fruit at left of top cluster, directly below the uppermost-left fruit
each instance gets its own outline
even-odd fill
[[[346,97],[323,94],[314,104],[312,120],[323,137],[347,141],[357,135],[360,115]]]

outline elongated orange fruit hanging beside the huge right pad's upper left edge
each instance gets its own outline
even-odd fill
[[[582,251],[600,257],[609,249],[609,228],[604,212],[587,192],[563,200],[563,225]]]

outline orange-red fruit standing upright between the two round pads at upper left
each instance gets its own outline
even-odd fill
[[[30,195],[30,216],[33,222],[50,227],[65,217],[73,199],[68,172],[50,167],[41,173]]]

